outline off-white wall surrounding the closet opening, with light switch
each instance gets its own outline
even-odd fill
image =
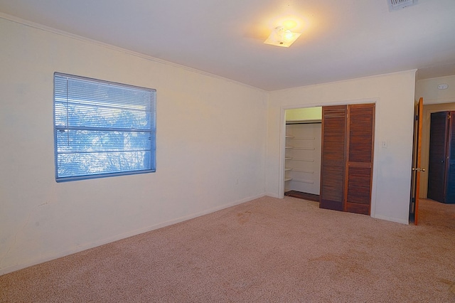
[[[266,191],[282,196],[284,112],[289,108],[376,103],[371,216],[408,223],[415,70],[346,80],[269,95]],[[382,148],[387,142],[387,148]]]

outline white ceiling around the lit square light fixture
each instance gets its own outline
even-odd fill
[[[455,0],[0,0],[0,12],[264,90],[455,75]],[[296,43],[262,43],[286,21]]]

